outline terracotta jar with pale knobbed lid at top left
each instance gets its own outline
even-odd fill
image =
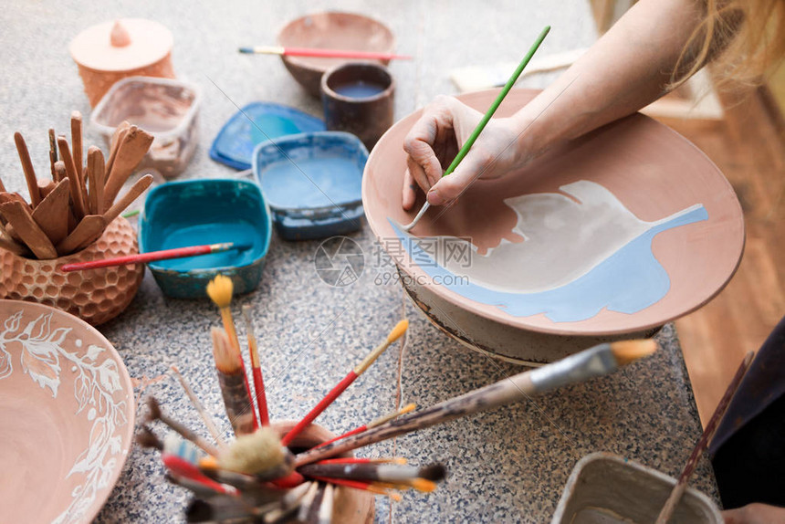
[[[89,26],[68,47],[77,63],[90,107],[120,79],[174,78],[172,32],[158,22],[122,18]]]

